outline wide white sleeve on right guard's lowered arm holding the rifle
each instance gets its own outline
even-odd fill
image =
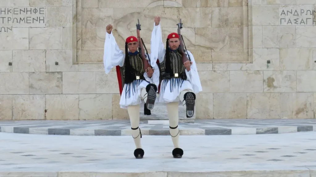
[[[197,65],[196,65],[194,57],[193,57],[193,55],[192,55],[192,53],[190,51],[186,51],[185,54],[186,55],[189,54],[190,59],[192,61],[192,65],[190,67],[190,71],[187,71],[185,69],[187,80],[191,83],[192,88],[193,88],[193,92],[197,94],[197,93],[202,91],[202,85],[201,85],[200,77],[199,77],[198,72],[197,72]]]

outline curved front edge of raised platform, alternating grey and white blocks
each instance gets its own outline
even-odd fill
[[[25,128],[1,126],[0,132],[5,133],[20,133],[20,134],[48,134],[48,135],[76,135],[76,136],[129,136],[131,129],[123,130],[113,129],[63,129],[63,128]],[[169,129],[150,129],[142,128],[143,135],[167,135]],[[296,133],[316,131],[314,125],[302,126],[279,126],[279,127],[263,127],[263,128],[248,128],[248,127],[231,127],[218,128],[212,127],[208,129],[202,128],[180,128],[181,135],[234,135],[234,134],[281,134],[281,133]]]

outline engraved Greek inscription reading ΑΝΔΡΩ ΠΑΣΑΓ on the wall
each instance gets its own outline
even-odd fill
[[[309,5],[284,5],[279,9],[279,25],[316,25],[316,11]]]

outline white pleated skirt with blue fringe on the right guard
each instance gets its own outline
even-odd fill
[[[159,102],[170,103],[180,101],[179,95],[183,90],[193,92],[192,85],[188,80],[181,78],[163,79],[160,83]]]

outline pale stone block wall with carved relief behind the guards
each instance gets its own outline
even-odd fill
[[[196,118],[314,118],[315,4],[0,0],[0,120],[128,119],[102,64],[105,26],[124,50],[139,19],[150,52],[155,15],[163,40],[182,19],[203,87]]]

